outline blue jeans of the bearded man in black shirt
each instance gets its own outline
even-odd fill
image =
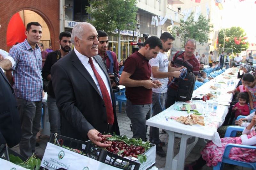
[[[51,133],[60,134],[60,111],[56,105],[56,99],[47,96],[47,107],[48,107],[48,114],[49,114],[49,122]]]

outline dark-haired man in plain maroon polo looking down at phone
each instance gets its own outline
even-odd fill
[[[120,77],[120,85],[125,85],[125,110],[132,123],[132,138],[141,138],[142,141],[145,141],[147,134],[146,120],[150,117],[152,88],[161,86],[158,80],[150,80],[149,60],[156,58],[162,48],[162,42],[158,37],[149,37],[139,51],[135,51],[125,60]]]

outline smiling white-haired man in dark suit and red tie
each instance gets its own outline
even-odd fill
[[[71,41],[75,48],[51,69],[53,91],[61,113],[61,135],[102,144],[98,133],[119,134],[114,95],[102,58],[98,33],[89,23],[79,23]],[[109,137],[110,135],[103,135]]]

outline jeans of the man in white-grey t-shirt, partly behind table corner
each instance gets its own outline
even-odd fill
[[[160,99],[162,107],[165,107],[165,104],[167,101],[167,92],[166,93],[152,92],[152,102],[153,102],[152,103],[152,110],[153,110],[152,117],[163,111],[163,109],[159,103],[159,99]],[[159,128],[150,126],[149,141],[150,141],[150,143],[153,143],[153,144],[160,144],[161,141],[159,139]]]

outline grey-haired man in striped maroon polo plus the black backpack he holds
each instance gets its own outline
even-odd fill
[[[175,101],[187,101],[192,97],[195,81],[199,73],[200,63],[193,54],[196,49],[196,41],[188,39],[185,43],[185,51],[178,51],[173,56],[171,67],[187,68],[182,78],[175,78],[168,86],[165,108],[172,106]]]

